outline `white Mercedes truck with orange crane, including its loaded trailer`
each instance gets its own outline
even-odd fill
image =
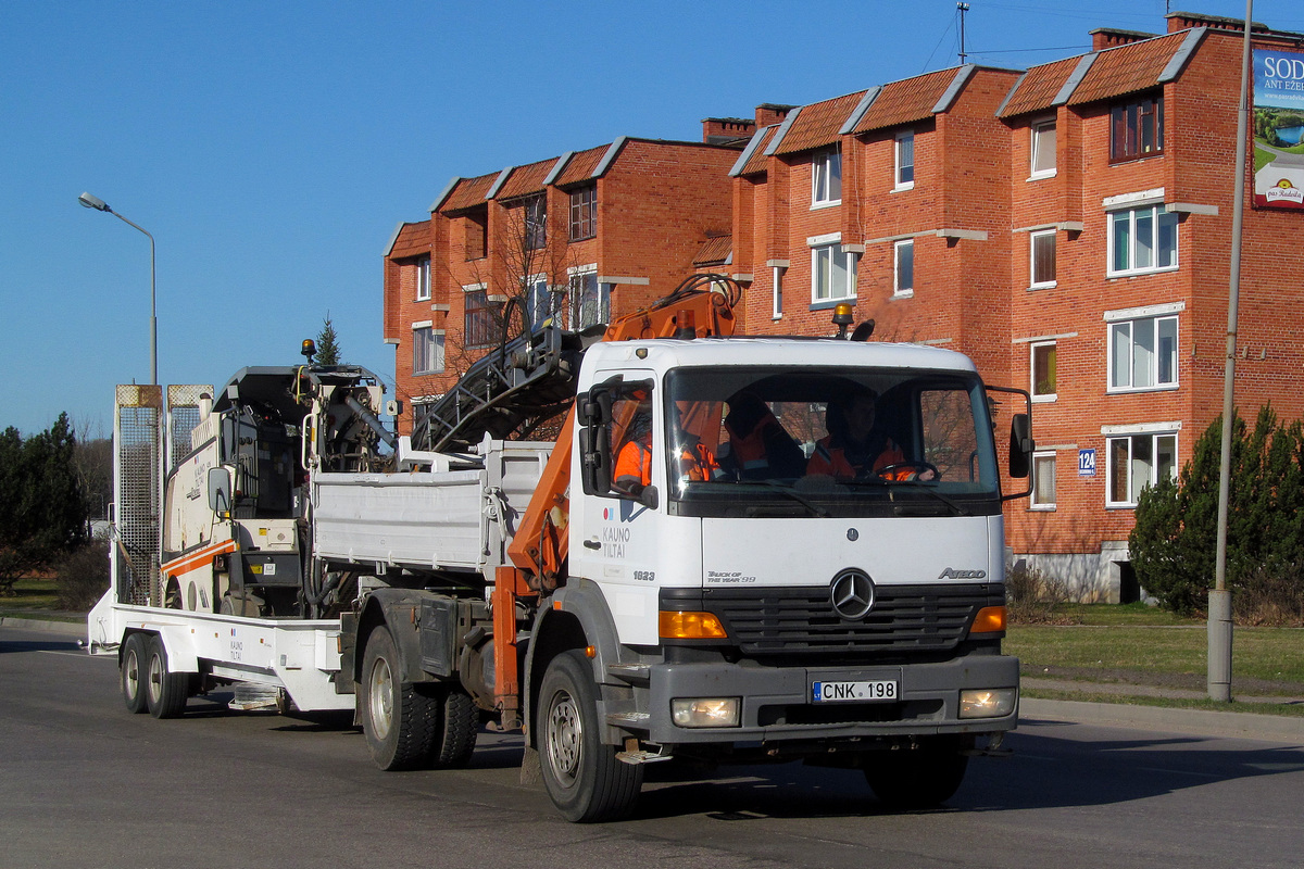
[[[627,816],[675,758],[949,799],[1017,718],[1001,507],[1029,396],[848,336],[849,307],[837,337],[734,336],[737,301],[698,275],[605,328],[528,327],[402,438],[356,366],[119,387],[91,651],[158,718],[216,689],[353,710],[386,770],[522,731],[570,821]],[[857,395],[895,452],[853,473],[827,459]]]

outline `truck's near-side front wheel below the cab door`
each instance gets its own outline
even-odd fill
[[[539,693],[535,734],[544,787],[567,821],[618,821],[634,810],[643,767],[615,758],[604,745],[597,719],[597,687],[580,651],[565,651],[548,664]]]

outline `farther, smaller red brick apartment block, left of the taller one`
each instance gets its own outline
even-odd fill
[[[703,142],[622,137],[450,181],[430,219],[400,224],[385,254],[402,429],[499,341],[505,318],[515,334],[605,323],[669,293],[695,262],[722,263],[728,171],[752,128],[708,119]]]

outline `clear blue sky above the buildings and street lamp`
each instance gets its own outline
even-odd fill
[[[1088,31],[1162,33],[1163,0],[970,0],[971,63],[1026,68]],[[1090,10],[1088,10],[1090,5]],[[1172,0],[1239,17],[1237,0]],[[1254,20],[1304,31],[1299,0]],[[1038,50],[1038,51],[1029,51]],[[957,63],[953,0],[60,3],[0,18],[0,429],[107,434],[115,383],[223,383],[299,361],[327,311],[393,380],[381,259],[455,175]]]

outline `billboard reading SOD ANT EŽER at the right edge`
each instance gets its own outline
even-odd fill
[[[1254,50],[1254,207],[1304,211],[1304,52]]]

